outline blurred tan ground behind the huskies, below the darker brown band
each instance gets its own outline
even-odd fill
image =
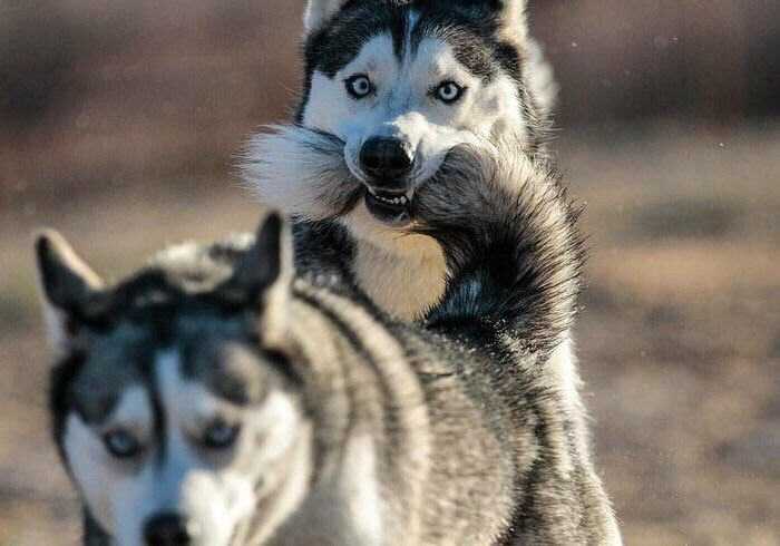
[[[579,131],[558,144],[588,203],[577,338],[627,544],[779,544],[780,130]],[[43,410],[33,227],[61,228],[119,275],[166,243],[250,230],[259,207],[227,181],[18,205],[0,236],[0,545],[77,544]]]

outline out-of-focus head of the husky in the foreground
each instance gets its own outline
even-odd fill
[[[255,544],[304,497],[309,428],[277,350],[286,238],[274,215],[241,252],[177,247],[115,286],[39,238],[56,438],[116,544]]]

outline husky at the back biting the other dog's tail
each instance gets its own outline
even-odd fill
[[[304,27],[295,121],[252,139],[247,185],[310,222],[303,252],[333,246],[318,236],[333,221],[347,226],[357,284],[392,316],[421,320],[448,272],[436,240],[416,234],[416,193],[464,144],[547,155],[556,89],[525,0],[310,0]],[[333,154],[341,168],[329,172]]]

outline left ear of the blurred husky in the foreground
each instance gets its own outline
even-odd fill
[[[36,259],[49,341],[64,354],[79,334],[89,303],[103,292],[104,281],[55,231],[37,237]]]

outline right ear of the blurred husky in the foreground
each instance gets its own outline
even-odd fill
[[[286,332],[286,316],[293,277],[292,233],[277,212],[261,223],[254,244],[223,286],[242,301],[262,305],[260,334],[263,345],[281,349]]]

